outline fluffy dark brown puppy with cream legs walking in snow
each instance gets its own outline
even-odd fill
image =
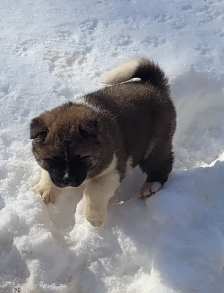
[[[138,81],[130,81],[139,78]],[[130,168],[147,174],[139,197],[156,193],[172,170],[176,111],[162,69],[147,58],[108,71],[106,86],[31,120],[32,151],[42,168],[34,186],[44,202],[60,188],[83,187],[92,226],[106,221],[108,200]]]

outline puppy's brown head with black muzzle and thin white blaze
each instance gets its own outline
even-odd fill
[[[67,103],[31,120],[32,151],[60,187],[79,186],[99,163],[100,125],[96,113]]]

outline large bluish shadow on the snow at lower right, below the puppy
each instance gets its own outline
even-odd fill
[[[136,253],[130,266],[143,267],[149,282],[154,274],[175,292],[221,292],[223,174],[224,161],[174,172],[153,197],[108,207],[106,229],[117,226],[131,239]]]

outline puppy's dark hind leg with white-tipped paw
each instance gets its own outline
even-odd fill
[[[157,151],[140,162],[139,166],[147,174],[147,179],[139,190],[139,198],[150,197],[163,187],[172,170],[173,161],[174,155],[170,148],[165,154]]]

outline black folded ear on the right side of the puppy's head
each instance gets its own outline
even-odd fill
[[[98,137],[98,121],[88,120],[78,125],[79,133],[86,139],[97,140]]]

